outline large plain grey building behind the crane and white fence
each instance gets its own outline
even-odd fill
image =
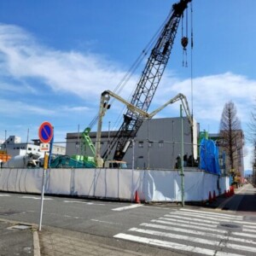
[[[183,118],[184,165],[188,165],[189,161],[192,165],[192,157],[197,158],[198,135],[197,125],[195,126],[196,131],[192,135],[189,120]],[[109,142],[115,134],[116,131],[102,131],[101,154],[108,151]],[[90,132],[90,138],[95,143],[96,132]],[[194,147],[192,141],[194,141]],[[84,142],[80,133],[67,133],[67,155],[85,154],[93,156],[86,144],[85,152],[82,153],[82,145],[84,145]],[[164,118],[143,121],[143,125],[137,132],[137,137],[134,138],[134,148],[131,143],[124,160],[129,168],[134,163],[135,168],[174,169],[178,157],[181,157],[181,119]],[[113,151],[108,154],[108,160],[112,160],[112,158]]]

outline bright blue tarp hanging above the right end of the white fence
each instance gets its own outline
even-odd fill
[[[220,175],[218,147],[212,140],[203,138],[200,143],[200,169]]]

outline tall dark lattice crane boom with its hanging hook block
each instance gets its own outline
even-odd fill
[[[172,45],[177,34],[177,27],[180,19],[183,17],[183,12],[188,7],[188,3],[192,0],[180,0],[172,5],[172,12],[166,21],[166,25],[160,32],[160,36],[151,50],[143,74],[137,84],[137,88],[131,97],[131,105],[135,108],[148,111],[150,103],[153,100],[154,93],[160,83],[160,79],[165,71],[167,62],[171,55]],[[188,44],[188,38],[182,38],[183,49]],[[135,114],[130,108],[127,108],[124,114],[123,124],[113,138],[108,150],[113,150],[113,160],[122,160],[125,156],[127,148],[131,143],[131,139],[137,134],[137,131],[143,124],[143,116],[141,113]],[[102,154],[105,159],[108,155],[108,150]]]

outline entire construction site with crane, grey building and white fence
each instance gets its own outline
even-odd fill
[[[125,78],[113,91],[102,91],[98,113],[90,125],[83,131],[67,132],[65,154],[52,154],[51,137],[45,142],[41,139],[41,143],[49,144],[46,152],[22,156],[19,165],[23,166],[3,151],[0,190],[37,194],[41,192],[45,175],[45,193],[49,195],[182,204],[231,195],[233,187],[230,186],[235,182],[236,185],[243,183],[243,164],[241,162],[236,173],[230,176],[227,160],[220,154],[216,142],[200,130],[193,102],[178,93],[149,112],[166,65],[172,61],[176,40],[181,42],[183,66],[188,65],[187,49],[192,52],[194,44],[193,30],[189,37],[185,25],[189,20],[188,9],[192,8],[190,3],[191,0],[180,0],[172,5],[160,31]],[[181,38],[177,38],[178,27],[182,29]],[[146,53],[149,56],[135,90],[130,98],[121,97],[120,90]],[[193,91],[188,90],[188,95],[193,96]],[[102,127],[108,126],[104,117],[112,111],[114,102],[125,109],[121,125],[119,129],[103,131]],[[177,117],[155,118],[170,105],[178,109]],[[93,131],[94,125],[96,131]],[[44,132],[51,133],[42,132],[42,137]],[[32,163],[29,168],[28,161]]]

